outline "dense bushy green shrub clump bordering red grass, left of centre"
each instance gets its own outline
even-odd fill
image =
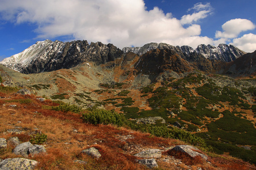
[[[96,109],[89,113],[82,114],[82,119],[90,124],[104,124],[123,126],[126,124],[126,118],[123,114],[114,111],[106,111],[105,109]]]

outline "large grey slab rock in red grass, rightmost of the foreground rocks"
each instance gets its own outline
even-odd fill
[[[200,151],[198,148],[190,146],[190,145],[178,145],[178,146],[175,146],[174,148],[172,148],[172,150],[185,152],[193,158],[195,156],[201,156],[201,158],[204,158],[205,160],[208,159],[208,157],[206,155],[197,152],[197,151]]]

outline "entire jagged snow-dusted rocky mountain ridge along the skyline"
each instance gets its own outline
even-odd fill
[[[41,73],[59,69],[70,69],[83,62],[95,62],[96,65],[104,64],[121,58],[123,54],[133,52],[142,56],[154,49],[173,50],[181,58],[189,61],[192,56],[203,56],[206,59],[217,61],[234,61],[234,59],[246,54],[233,45],[199,45],[197,49],[189,46],[172,46],[165,43],[151,42],[142,47],[126,47],[122,50],[113,44],[102,44],[86,40],[61,42],[61,41],[38,41],[36,44],[23,50],[23,52],[3,59],[2,65],[19,71],[20,73]]]

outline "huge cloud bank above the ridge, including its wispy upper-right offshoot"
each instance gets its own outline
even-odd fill
[[[148,42],[191,45],[212,42],[201,37],[201,27],[193,24],[212,10],[210,4],[197,3],[181,20],[155,7],[147,11],[143,0],[1,0],[2,20],[15,24],[38,25],[38,39],[69,36],[73,40],[113,43],[119,48]],[[183,24],[189,23],[184,28]],[[182,44],[181,44],[182,43]],[[212,43],[210,43],[212,44]]]

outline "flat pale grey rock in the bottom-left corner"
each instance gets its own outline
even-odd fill
[[[5,159],[0,162],[0,169],[11,170],[11,169],[34,169],[34,167],[38,164],[37,161],[31,159],[24,158],[13,158],[13,159]]]

